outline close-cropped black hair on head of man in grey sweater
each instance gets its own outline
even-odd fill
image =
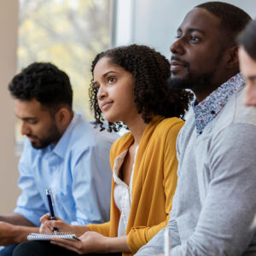
[[[221,23],[221,29],[227,35],[230,44],[236,45],[237,35],[247,26],[252,18],[242,9],[230,3],[207,2],[201,3],[195,8],[206,9],[212,15],[217,16]]]

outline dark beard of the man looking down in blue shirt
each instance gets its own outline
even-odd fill
[[[57,143],[62,136],[61,131],[58,130],[55,123],[53,123],[49,127],[47,134],[49,134],[49,137],[45,137],[43,139],[39,139],[38,137],[35,137],[38,139],[38,142],[32,142],[32,147],[36,148],[36,149],[46,148],[51,143]],[[30,137],[30,136],[28,136],[28,137]],[[31,137],[33,137],[33,136],[31,136]]]

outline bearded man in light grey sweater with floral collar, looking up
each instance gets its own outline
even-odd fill
[[[170,220],[137,256],[163,253],[167,229],[171,256],[256,255],[256,111],[242,104],[236,44],[249,20],[233,5],[208,2],[177,29],[170,84],[196,99],[177,137]]]

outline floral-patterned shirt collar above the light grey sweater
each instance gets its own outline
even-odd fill
[[[219,86],[218,89],[213,90],[202,102],[197,105],[195,105],[196,100],[193,102],[192,107],[195,113],[197,136],[201,135],[207,124],[218,115],[222,108],[224,108],[225,104],[229,101],[230,96],[244,84],[245,79],[241,73],[237,73],[234,77]]]

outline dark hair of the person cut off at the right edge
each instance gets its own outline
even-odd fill
[[[241,44],[254,61],[256,61],[256,20],[252,20],[238,37]]]

